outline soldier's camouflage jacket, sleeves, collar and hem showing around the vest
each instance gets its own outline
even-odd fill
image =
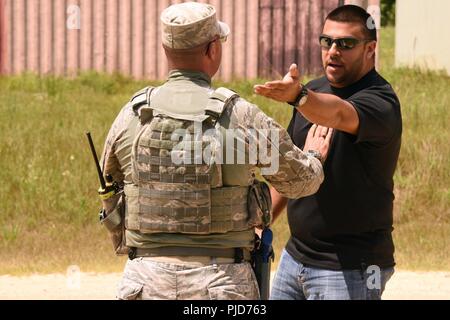
[[[183,83],[184,82],[184,83]],[[166,85],[175,87],[189,87],[206,98],[213,91],[210,88],[211,80],[202,73],[172,71]],[[152,92],[152,97],[158,94],[158,88]],[[150,101],[153,101],[150,99]],[[231,174],[223,177],[224,186],[235,185],[234,179],[242,181],[248,179],[252,183],[254,173],[261,169],[263,177],[283,196],[299,198],[315,193],[323,181],[323,169],[319,160],[306,155],[291,141],[287,131],[268,117],[257,106],[245,99],[237,98],[226,108],[220,118],[220,124],[225,129],[240,129],[243,132],[259,131],[253,135],[253,139],[264,139],[260,146],[265,146],[267,154],[271,155],[269,161],[256,159],[254,164],[247,163],[248,174]],[[105,174],[111,174],[116,182],[123,184],[132,183],[131,149],[133,141],[142,128],[139,112],[133,109],[133,103],[127,103],[114,121],[104,147],[101,164]],[[273,139],[276,138],[276,139]],[[251,139],[250,139],[251,140]],[[243,139],[246,151],[251,150],[249,139]],[[255,142],[255,141],[253,141]],[[257,141],[261,142],[261,141]],[[246,158],[249,160],[249,158]],[[273,161],[275,160],[275,161]],[[276,162],[276,170],[264,173]],[[230,166],[225,164],[225,166]],[[226,172],[227,170],[223,170]],[[230,170],[228,170],[230,171]],[[233,171],[233,170],[231,170]],[[269,170],[270,171],[270,170]],[[242,173],[243,170],[240,170]],[[230,177],[231,176],[231,177]],[[106,212],[115,208],[117,198],[104,201]],[[126,245],[128,247],[155,248],[160,246],[201,246],[219,248],[253,248],[254,231],[230,232],[226,234],[189,235],[189,234],[141,234],[140,232],[127,230]]]

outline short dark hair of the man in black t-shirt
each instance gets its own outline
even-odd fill
[[[338,7],[328,14],[325,21],[326,20],[359,23],[361,24],[365,38],[367,40],[377,41],[377,29],[374,24],[375,20],[373,20],[373,17],[367,13],[366,10],[359,6],[347,4]]]

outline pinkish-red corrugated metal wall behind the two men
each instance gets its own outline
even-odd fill
[[[165,78],[159,15],[176,2],[182,1],[0,0],[1,70],[57,75],[97,70]],[[218,76],[279,77],[292,62],[304,74],[320,73],[318,36],[325,16],[340,2],[209,1],[232,29]]]

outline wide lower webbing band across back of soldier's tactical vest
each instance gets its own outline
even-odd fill
[[[128,213],[140,212],[134,225],[128,220],[127,228],[139,230],[142,233],[165,232],[179,233],[224,233],[227,231],[242,231],[248,229],[247,222],[247,195],[248,187],[225,187],[211,189],[211,215],[205,208],[170,207],[169,203],[199,201],[189,190],[157,190],[138,189],[136,186],[127,186],[125,192],[139,197],[141,203],[128,202]],[[130,188],[134,189],[133,191]],[[207,195],[207,190],[199,192]],[[177,199],[177,200],[173,200]],[[164,206],[162,206],[164,205]],[[143,214],[145,213],[145,214]],[[164,217],[164,219],[162,219]],[[190,221],[190,222],[189,222]],[[205,223],[201,223],[201,222]],[[206,223],[206,222],[210,223]],[[170,223],[169,223],[170,222]]]

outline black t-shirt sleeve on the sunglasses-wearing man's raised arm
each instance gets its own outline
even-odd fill
[[[390,90],[371,87],[348,98],[359,117],[359,130],[356,142],[369,142],[383,146],[398,132],[399,103]]]

